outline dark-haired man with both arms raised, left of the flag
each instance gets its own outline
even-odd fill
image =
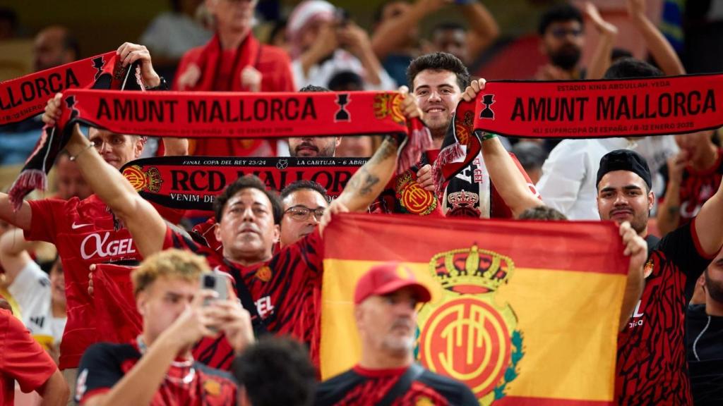
[[[406,118],[421,116],[414,96],[401,89],[401,111]],[[206,256],[211,267],[234,277],[244,307],[254,317],[258,334],[290,334],[318,350],[318,319],[313,298],[322,279],[324,224],[300,241],[274,253],[283,216],[281,202],[255,176],[231,183],[215,200],[215,237],[221,252],[199,246],[163,222],[115,170],[103,165],[100,156],[88,149],[87,139],[74,132],[67,149],[77,155],[82,173],[129,230],[142,256],[168,248],[189,249]],[[340,196],[330,205],[333,211],[367,210],[393,176],[398,145],[393,137],[382,143],[375,155],[354,173]],[[92,176],[91,176],[92,175]],[[228,368],[231,349],[224,341],[202,343],[199,360],[210,366]]]

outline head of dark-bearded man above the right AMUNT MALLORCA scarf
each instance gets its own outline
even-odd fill
[[[539,24],[540,52],[549,58],[549,64],[540,66],[536,79],[581,79],[578,61],[585,44],[583,28],[583,15],[571,4],[545,12]]]

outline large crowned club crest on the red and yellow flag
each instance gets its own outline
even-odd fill
[[[514,269],[507,256],[476,245],[442,252],[429,262],[443,298],[419,311],[419,360],[463,381],[483,406],[505,397],[524,355],[517,316],[495,297]]]

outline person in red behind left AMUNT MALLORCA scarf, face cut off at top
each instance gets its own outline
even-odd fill
[[[251,31],[257,0],[206,0],[216,32],[179,63],[174,90],[216,92],[293,92],[291,61],[281,48],[262,44]],[[191,155],[273,156],[262,139],[203,139]]]

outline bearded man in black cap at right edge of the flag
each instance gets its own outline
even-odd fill
[[[648,165],[636,152],[615,150],[600,160],[600,218],[629,222],[649,246],[643,295],[617,340],[615,394],[620,405],[692,405],[685,308],[696,280],[723,245],[723,190],[691,223],[658,240],[648,235],[651,184]]]

